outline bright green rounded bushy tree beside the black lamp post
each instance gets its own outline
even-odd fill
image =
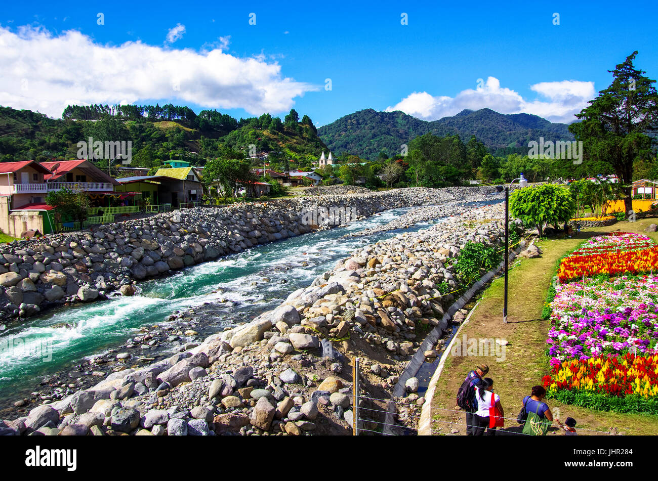
[[[509,211],[525,225],[535,225],[542,235],[545,225],[569,221],[576,212],[576,202],[567,187],[542,184],[514,191]]]

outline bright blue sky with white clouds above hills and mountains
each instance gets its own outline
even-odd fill
[[[187,105],[236,118],[295,108],[436,120],[465,108],[573,122],[616,64],[658,78],[658,8],[634,1],[11,2],[0,105]]]

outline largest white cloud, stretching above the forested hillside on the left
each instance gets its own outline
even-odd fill
[[[250,114],[284,112],[295,97],[320,87],[282,76],[265,58],[238,58],[220,47],[197,52],[130,41],[94,43],[69,30],[0,27],[0,105],[61,116],[68,104],[172,101]]]

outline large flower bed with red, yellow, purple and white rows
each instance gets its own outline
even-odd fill
[[[658,414],[658,246],[641,234],[584,242],[562,260],[548,304],[549,396],[565,403]],[[615,277],[617,276],[617,277]]]

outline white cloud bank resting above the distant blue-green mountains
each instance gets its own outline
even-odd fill
[[[501,114],[535,114],[551,122],[574,122],[574,114],[586,107],[595,96],[594,82],[563,80],[541,82],[530,86],[543,100],[526,101],[516,91],[501,87],[500,81],[489,77],[476,89],[465,89],[455,97],[434,97],[427,92],[414,92],[387,112],[402,110],[424,120],[436,120],[453,116],[465,108],[479,110],[490,108]]]

